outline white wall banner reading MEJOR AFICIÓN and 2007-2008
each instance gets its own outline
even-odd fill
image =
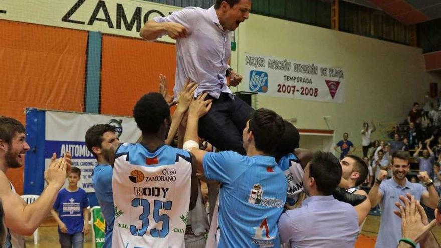
[[[266,96],[344,103],[344,76],[338,67],[245,54],[244,82]]]

